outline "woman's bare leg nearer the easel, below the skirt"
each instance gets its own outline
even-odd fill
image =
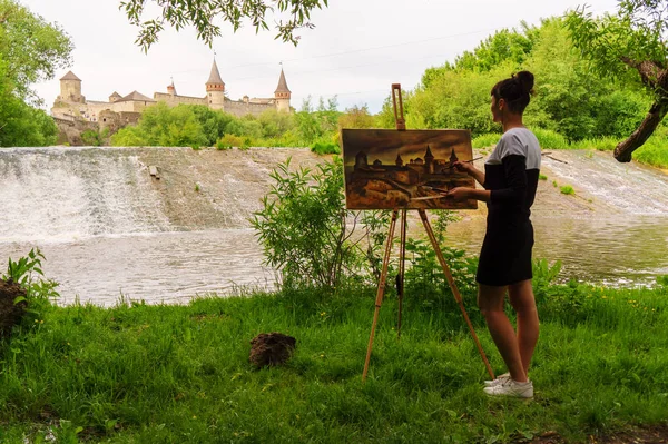
[[[519,383],[527,382],[527,372],[518,345],[514,328],[503,312],[507,287],[478,285],[478,306],[484,316],[492,339],[508,366],[510,377]]]

